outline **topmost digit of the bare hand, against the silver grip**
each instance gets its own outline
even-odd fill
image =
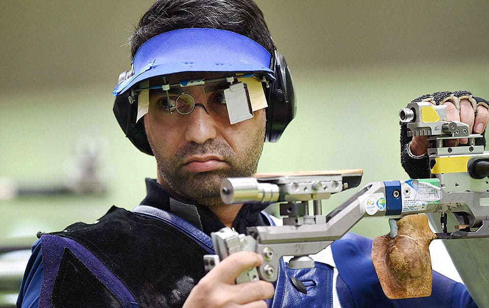
[[[250,251],[230,254],[202,279],[212,279],[225,284],[234,284],[236,277],[250,267],[260,266],[263,257]]]

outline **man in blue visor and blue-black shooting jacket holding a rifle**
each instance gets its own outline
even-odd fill
[[[263,262],[251,252],[232,254],[205,274],[210,232],[273,223],[264,206],[222,204],[219,186],[228,176],[253,175],[263,141],[276,141],[293,118],[287,66],[249,0],[157,1],[130,44],[133,72],[114,89],[114,113],[133,144],[155,155],[157,179],[147,179],[147,196],[132,212],[112,207],[93,224],[42,235],[19,307],[474,305],[462,284],[437,273],[431,297],[389,301],[370,260],[371,242],[352,234],[320,253],[324,263],[312,269],[281,263],[275,286],[234,284]],[[465,98],[458,103],[467,120]],[[484,130],[480,114],[487,110],[477,110],[469,120]],[[425,152],[422,142],[404,151]],[[426,168],[419,154],[407,153],[407,168]]]

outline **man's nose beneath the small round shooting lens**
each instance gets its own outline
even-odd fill
[[[214,139],[217,134],[214,117],[206,111],[202,104],[198,106],[200,102],[205,102],[205,95],[201,94],[194,96],[195,109],[184,117],[187,121],[185,130],[185,140],[187,142],[204,143],[209,139]]]

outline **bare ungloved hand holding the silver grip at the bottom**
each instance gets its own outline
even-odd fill
[[[263,258],[249,251],[233,253],[217,264],[190,292],[183,308],[191,307],[267,307],[265,299],[274,293],[273,285],[260,280],[236,285],[244,270],[259,266]]]

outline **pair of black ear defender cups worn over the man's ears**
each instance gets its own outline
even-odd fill
[[[270,83],[268,88],[264,85],[268,104],[265,141],[277,142],[287,125],[295,117],[296,102],[292,78],[285,58],[275,50],[271,59],[270,69],[273,70],[276,80]],[[122,72],[119,75],[118,83],[130,78],[133,74],[132,70]],[[136,123],[137,95],[131,97],[131,91],[126,91],[116,96],[113,112],[122,131],[133,145],[141,152],[153,155],[144,129],[143,118]]]

